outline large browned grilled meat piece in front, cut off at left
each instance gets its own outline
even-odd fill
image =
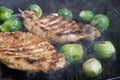
[[[65,57],[56,54],[49,42],[20,31],[0,33],[0,62],[9,68],[35,72],[56,71],[66,65]]]

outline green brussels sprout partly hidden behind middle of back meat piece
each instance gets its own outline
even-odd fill
[[[63,18],[69,19],[69,20],[72,20],[73,18],[72,11],[67,8],[60,8],[58,10],[58,15],[62,16]]]

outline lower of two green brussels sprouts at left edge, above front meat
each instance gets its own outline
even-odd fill
[[[11,17],[7,19],[1,26],[0,29],[2,32],[6,31],[17,31],[21,28],[21,21],[17,17]]]

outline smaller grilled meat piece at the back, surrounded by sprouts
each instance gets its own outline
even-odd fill
[[[22,11],[24,26],[29,32],[45,38],[50,43],[68,43],[79,39],[94,40],[100,32],[90,25],[77,24],[56,14],[38,18],[33,11]]]

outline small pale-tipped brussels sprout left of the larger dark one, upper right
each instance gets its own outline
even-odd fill
[[[90,11],[90,10],[82,10],[80,13],[79,13],[79,16],[81,19],[83,19],[84,21],[91,21],[93,19],[93,12]]]

